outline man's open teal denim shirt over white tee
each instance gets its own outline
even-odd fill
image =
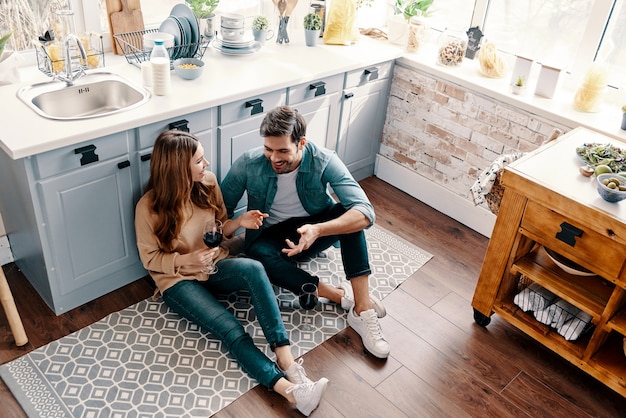
[[[269,213],[276,196],[276,183],[276,173],[265,157],[264,148],[246,151],[233,163],[220,185],[228,216],[233,216],[244,192],[248,193],[248,210]],[[336,203],[329,187],[346,209],[358,210],[369,219],[370,225],[374,224],[374,207],[337,154],[307,142],[296,188],[300,202],[310,215],[316,215]],[[260,233],[261,230],[246,230],[246,247]]]

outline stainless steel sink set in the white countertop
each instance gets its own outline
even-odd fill
[[[73,85],[53,80],[25,86],[17,97],[43,117],[78,120],[136,108],[150,99],[150,92],[117,74],[98,72],[76,79]]]

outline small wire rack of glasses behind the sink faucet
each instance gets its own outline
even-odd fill
[[[83,60],[78,56],[73,58],[80,60],[81,65],[83,65],[83,68],[86,70],[104,67],[102,35],[81,35],[79,38],[87,53],[87,59]],[[65,70],[63,46],[60,42],[50,41],[39,44],[39,46],[35,48],[35,55],[37,56],[37,68],[47,76],[52,77],[54,74]]]

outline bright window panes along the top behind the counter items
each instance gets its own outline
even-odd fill
[[[184,0],[141,1],[147,27],[154,27],[175,3]],[[361,12],[366,27],[385,25],[393,0],[374,0]],[[479,26],[498,48],[532,57],[547,65],[582,74],[594,60],[610,69],[611,84],[626,88],[626,0],[435,0],[431,27]],[[310,0],[300,0],[306,11]],[[9,48],[28,50],[51,27],[54,11],[71,7],[77,30],[108,32],[106,0],[1,0],[0,33],[12,29]],[[218,11],[243,10],[246,15],[271,15],[271,0],[223,0]],[[369,15],[368,15],[369,14]],[[297,20],[297,19],[296,19]],[[17,22],[17,23],[15,23]],[[370,23],[374,24],[370,24]],[[294,22],[297,27],[298,22]],[[105,36],[110,42],[110,37]],[[109,45],[110,47],[110,45]]]

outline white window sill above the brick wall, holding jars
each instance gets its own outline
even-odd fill
[[[580,112],[572,105],[577,89],[577,81],[566,72],[561,72],[554,97],[547,99],[535,96],[535,87],[540,65],[533,63],[527,80],[526,90],[521,95],[511,92],[511,73],[501,79],[493,79],[480,73],[478,59],[464,59],[458,67],[445,67],[435,63],[437,50],[433,45],[424,45],[416,53],[404,53],[398,58],[401,66],[426,72],[434,77],[472,90],[480,95],[511,106],[534,113],[538,116],[553,120],[559,124],[572,128],[583,126],[609,137],[626,142],[626,131],[620,129],[622,122],[622,105],[626,104],[626,92],[618,89],[609,89],[605,94],[600,111],[597,113]],[[512,60],[511,60],[512,61]],[[510,63],[512,64],[512,63]]]

